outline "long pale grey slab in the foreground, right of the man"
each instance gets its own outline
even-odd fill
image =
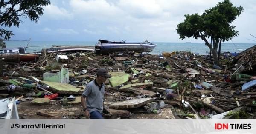
[[[126,101],[111,104],[111,105],[109,105],[109,108],[113,108],[113,109],[138,108],[138,107],[141,107],[141,106],[143,106],[147,103],[151,103],[153,101],[154,101],[153,98],[132,99],[132,100],[126,100]]]

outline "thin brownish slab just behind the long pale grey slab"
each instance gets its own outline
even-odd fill
[[[128,87],[128,88],[123,88],[119,89],[119,91],[124,91],[124,92],[133,92],[136,95],[143,95],[143,94],[148,94],[149,97],[154,97],[157,95],[157,93],[149,90],[141,90],[140,88],[133,88],[133,87]]]

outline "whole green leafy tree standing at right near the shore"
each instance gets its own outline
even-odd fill
[[[214,63],[218,63],[217,48],[221,42],[231,40],[237,37],[238,31],[235,26],[230,24],[236,20],[243,11],[243,7],[233,6],[229,0],[219,2],[215,7],[205,10],[202,15],[186,14],[184,22],[177,25],[177,33],[180,39],[185,37],[193,37],[195,39],[201,38],[205,45],[209,47],[212,52]],[[208,40],[211,40],[209,43]]]

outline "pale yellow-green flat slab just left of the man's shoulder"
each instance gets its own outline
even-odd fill
[[[81,90],[83,89],[76,88],[73,85],[67,83],[56,83],[49,81],[41,81],[42,83],[48,85],[53,92],[59,94],[81,94]]]

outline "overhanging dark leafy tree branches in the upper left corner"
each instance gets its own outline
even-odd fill
[[[9,40],[14,34],[4,27],[20,26],[20,17],[29,17],[38,22],[43,15],[43,6],[51,4],[49,0],[0,0],[0,36]]]

